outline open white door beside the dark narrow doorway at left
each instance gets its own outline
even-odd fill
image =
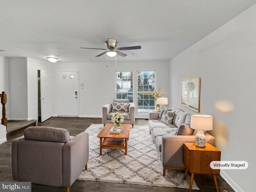
[[[43,122],[53,114],[52,71],[40,70],[40,90],[41,122]]]

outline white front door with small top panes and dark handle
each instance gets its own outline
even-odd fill
[[[59,116],[78,116],[78,71],[58,72]]]

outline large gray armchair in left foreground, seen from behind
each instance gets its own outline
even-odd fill
[[[66,192],[89,160],[88,133],[70,137],[66,129],[33,126],[12,141],[12,176],[48,186],[64,186]]]

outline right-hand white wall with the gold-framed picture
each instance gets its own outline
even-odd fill
[[[244,192],[254,191],[256,176],[255,13],[256,5],[170,61],[172,104],[195,113],[180,104],[181,78],[201,77],[200,113],[214,116],[218,132],[213,130],[212,134],[221,159],[249,164],[246,170],[221,170],[221,175],[234,190]],[[215,104],[219,100],[231,102],[234,110],[218,112]]]

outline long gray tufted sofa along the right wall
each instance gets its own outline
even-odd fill
[[[191,114],[177,107],[172,107],[168,110],[175,112],[172,124],[166,124],[161,121],[163,112],[150,112],[148,122],[150,134],[154,139],[157,152],[163,165],[164,176],[166,169],[186,169],[183,163],[183,143],[194,143],[197,133],[196,130],[190,128]],[[178,135],[176,135],[177,133]],[[214,146],[215,138],[208,133],[205,133],[205,136],[206,142]]]

